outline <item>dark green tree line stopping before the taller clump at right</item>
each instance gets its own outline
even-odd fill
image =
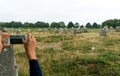
[[[51,24],[49,24],[48,22],[42,22],[42,21],[38,21],[36,23],[29,23],[29,22],[0,22],[0,27],[7,27],[7,28],[19,28],[19,27],[23,27],[23,28],[48,28],[48,27],[52,27],[52,28],[77,28],[77,27],[84,27],[84,25],[80,25],[79,23],[73,23],[72,21],[69,22],[67,25],[65,25],[64,22],[52,22]],[[93,23],[92,25],[90,23],[86,24],[87,28],[98,28],[99,25],[97,23]]]

